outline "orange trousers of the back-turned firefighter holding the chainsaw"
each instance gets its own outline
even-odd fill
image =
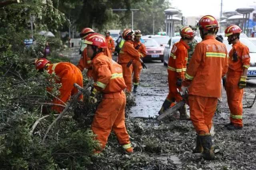
[[[217,97],[188,96],[190,119],[198,134],[210,133],[217,103]]]

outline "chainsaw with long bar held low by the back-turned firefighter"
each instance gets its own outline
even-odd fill
[[[188,91],[185,91],[185,93],[180,91],[179,89],[177,89],[177,91],[183,99],[181,101],[179,101],[178,103],[176,103],[173,107],[167,109],[166,111],[164,111],[164,113],[159,115],[157,117],[158,121],[162,120],[164,117],[166,117],[168,115],[169,116],[173,115],[175,111],[179,110],[181,107],[183,107],[186,104],[186,101],[188,100]]]

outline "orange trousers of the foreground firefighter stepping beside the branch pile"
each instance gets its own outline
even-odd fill
[[[91,126],[92,131],[97,135],[96,139],[102,144],[102,149],[106,146],[111,130],[114,131],[121,145],[130,143],[124,123],[125,105],[126,97],[123,91],[103,95]]]

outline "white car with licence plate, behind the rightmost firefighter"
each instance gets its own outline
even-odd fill
[[[240,37],[240,42],[246,45],[250,51],[250,67],[247,71],[247,79],[256,79],[256,44],[249,38]],[[228,52],[232,49],[232,45],[228,44],[228,38],[224,37],[223,43],[226,45]]]

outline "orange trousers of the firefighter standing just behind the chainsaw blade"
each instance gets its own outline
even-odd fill
[[[168,70],[168,85],[169,85],[169,94],[167,100],[171,102],[179,102],[182,100],[181,95],[178,93],[177,88],[181,91],[180,87],[176,85],[177,75],[175,71]]]

